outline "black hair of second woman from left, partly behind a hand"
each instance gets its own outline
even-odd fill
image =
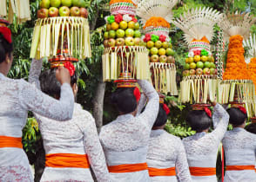
[[[41,90],[52,97],[60,97],[61,84],[56,78],[56,68],[45,70],[39,76]],[[71,86],[77,83],[77,74],[71,76]]]

